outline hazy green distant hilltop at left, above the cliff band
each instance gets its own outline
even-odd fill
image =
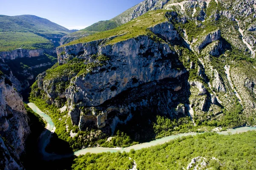
[[[57,47],[60,45],[61,37],[71,32],[73,31],[35,15],[0,15],[0,51],[16,48],[34,49],[38,48],[34,45],[38,43],[47,43],[47,47]],[[17,38],[11,39],[12,34]],[[49,45],[52,43],[53,45]]]

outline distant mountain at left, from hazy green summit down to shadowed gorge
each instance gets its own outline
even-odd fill
[[[0,70],[25,99],[36,76],[55,64],[56,46],[70,32],[34,15],[0,15]]]

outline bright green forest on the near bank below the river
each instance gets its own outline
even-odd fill
[[[190,169],[198,166],[203,169],[211,167],[212,170],[252,170],[256,169],[255,141],[255,131],[227,136],[215,133],[183,136],[129,153],[87,153],[75,159],[72,169],[124,170],[130,169],[134,160],[138,170],[181,170],[199,156],[201,159]]]

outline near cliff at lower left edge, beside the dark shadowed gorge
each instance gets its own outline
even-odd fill
[[[25,150],[25,140],[29,135],[28,117],[22,97],[9,79],[0,77],[0,146],[3,169],[23,169],[19,156]],[[2,169],[2,168],[1,168]]]

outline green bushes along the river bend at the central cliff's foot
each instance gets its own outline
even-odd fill
[[[36,88],[37,82],[32,85],[32,95],[34,95],[33,92],[37,91]],[[131,140],[131,138],[124,133],[117,132],[111,142],[108,142],[108,136],[102,133],[101,130],[90,129],[87,131],[80,131],[78,126],[72,125],[70,117],[67,116],[67,111],[61,113],[59,108],[55,107],[54,105],[48,105],[43,99],[40,99],[39,97],[32,97],[32,95],[30,96],[29,100],[34,102],[38,108],[41,109],[41,111],[47,113],[55,124],[55,133],[57,136],[52,139],[52,146],[49,147],[49,149],[54,148],[55,153],[60,153],[63,145],[67,147],[67,145],[63,142],[63,145],[58,143],[58,141],[61,140],[67,142],[73,151],[79,150],[84,146],[93,147],[100,145],[102,147],[127,147],[137,144],[137,142]],[[72,138],[70,136],[70,131],[77,133],[77,135]],[[88,136],[90,137],[88,138]]]

